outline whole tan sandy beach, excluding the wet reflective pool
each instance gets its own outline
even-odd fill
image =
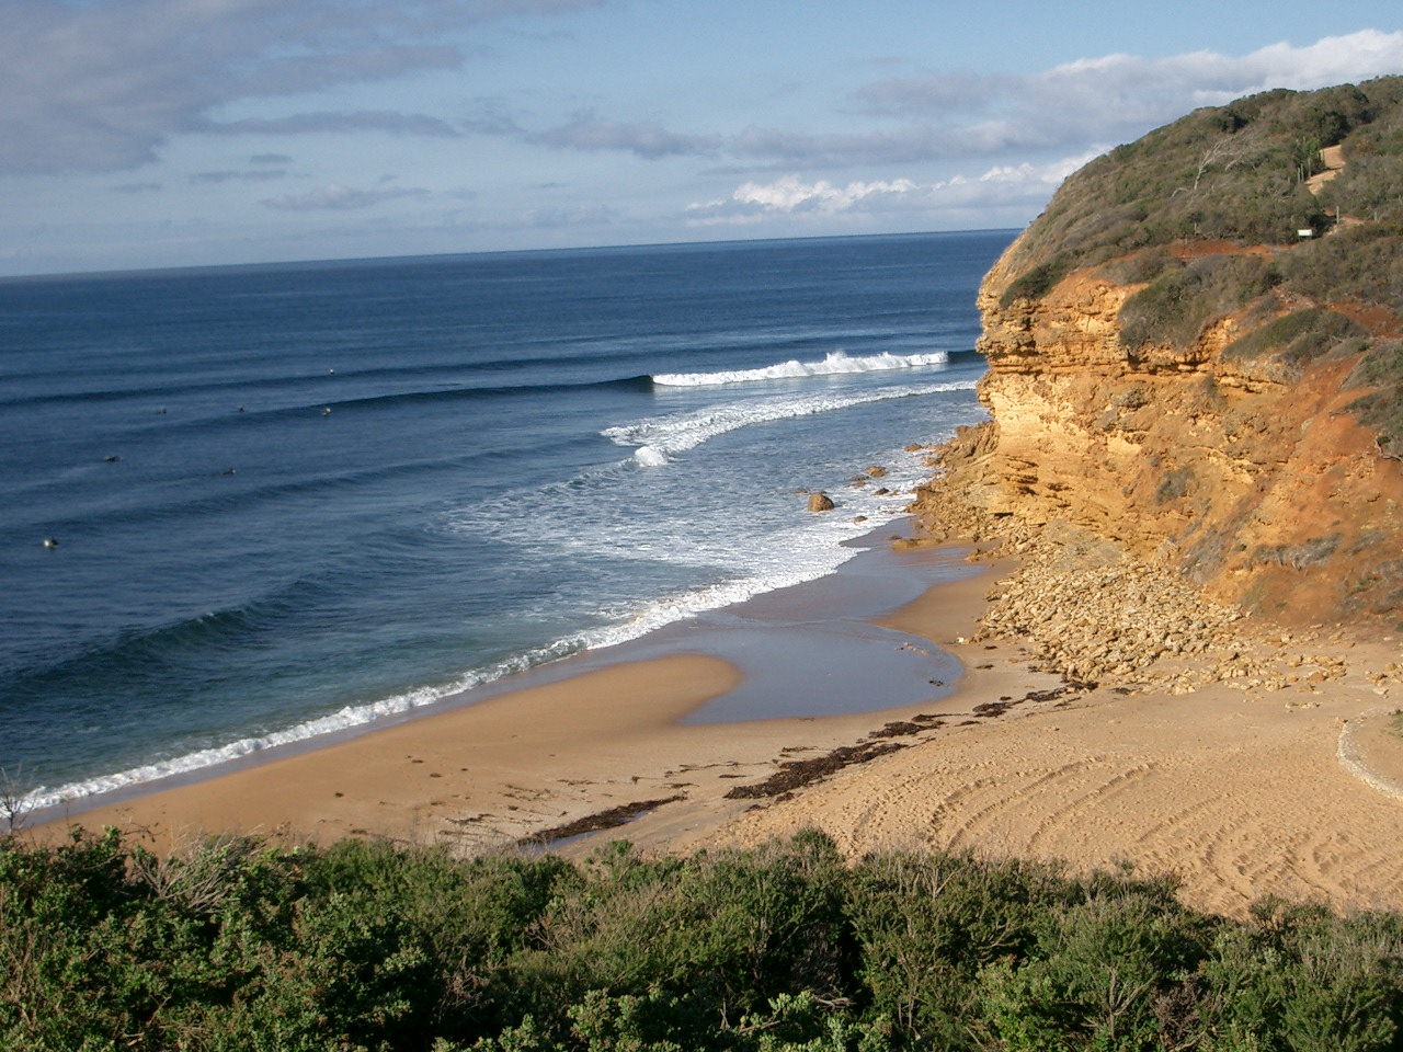
[[[1236,677],[1202,676],[1191,693],[1173,693],[1183,673],[1068,686],[1033,668],[1034,641],[979,638],[985,593],[999,591],[1002,572],[941,584],[882,619],[964,663],[960,690],[940,703],[685,725],[739,673],[678,654],[74,821],[161,847],[255,832],[481,851],[619,811],[627,825],[556,850],[582,856],[622,836],[644,850],[690,851],[817,826],[849,856],[937,847],[1073,867],[1131,863],[1177,874],[1194,906],[1239,916],[1266,893],[1403,909],[1403,738],[1385,715],[1399,706],[1393,638],[1282,641],[1242,623],[1235,654],[1251,655],[1249,672],[1221,673]],[[881,675],[870,669],[874,682]],[[805,764],[825,759],[831,770],[803,785]],[[756,788],[777,771],[787,788]]]

